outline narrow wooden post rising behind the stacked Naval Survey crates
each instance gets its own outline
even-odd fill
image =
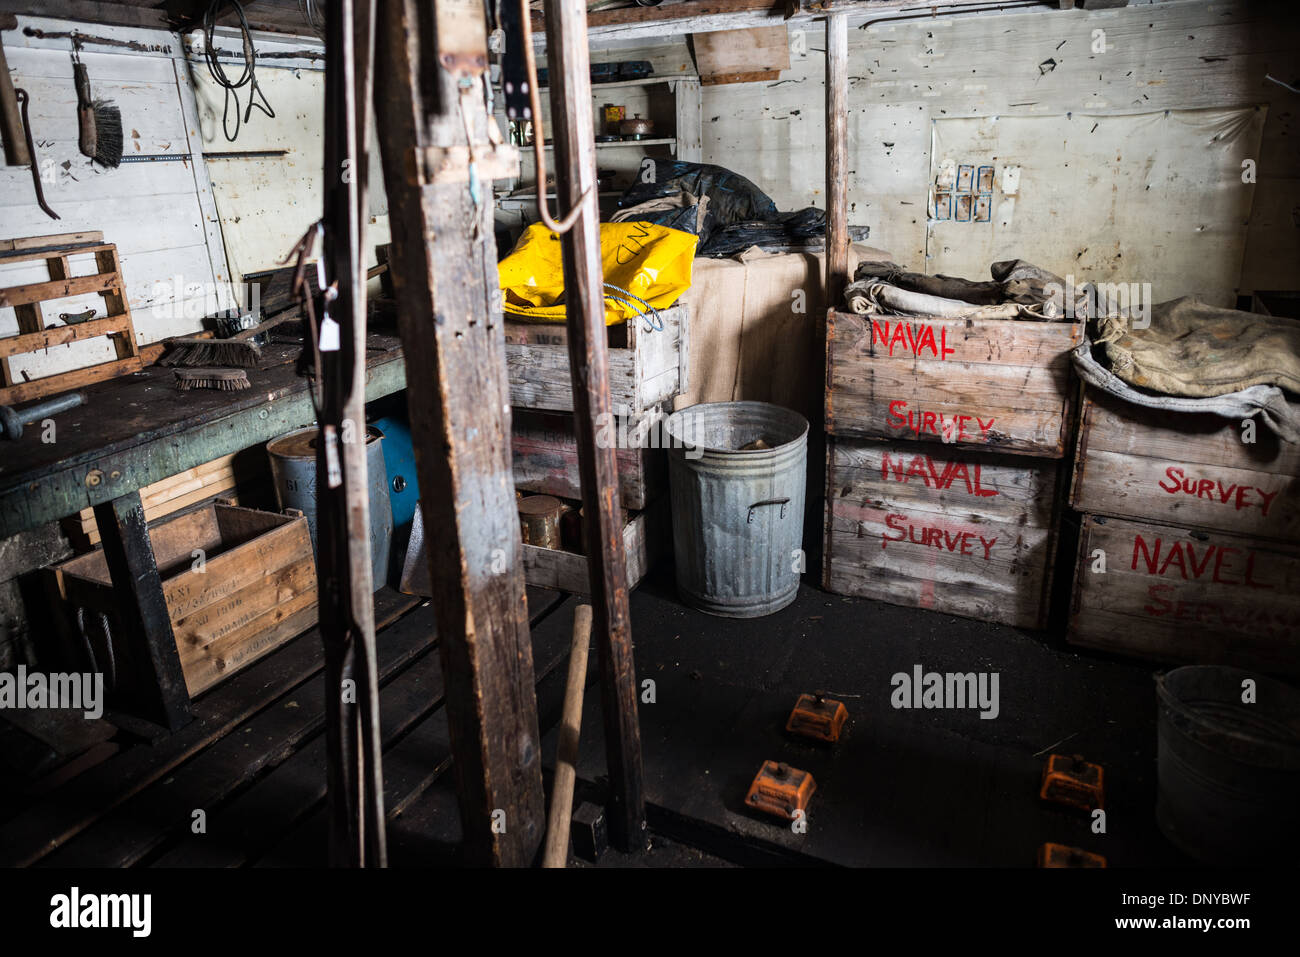
[[[849,282],[849,20],[826,18],[826,306]]]

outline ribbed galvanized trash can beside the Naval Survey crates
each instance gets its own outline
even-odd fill
[[[711,402],[668,417],[677,589],[701,611],[758,618],[800,589],[807,420],[766,402]],[[762,439],[767,449],[742,450]]]

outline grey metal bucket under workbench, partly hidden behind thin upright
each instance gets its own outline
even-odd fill
[[[276,501],[281,508],[299,508],[307,516],[316,554],[316,426],[298,429],[266,443]],[[389,579],[389,549],[393,541],[393,505],[384,467],[384,433],[365,429],[365,476],[370,486],[370,575],[376,590]]]

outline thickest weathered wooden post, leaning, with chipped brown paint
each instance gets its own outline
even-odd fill
[[[465,850],[474,863],[526,866],[545,797],[510,381],[491,181],[471,177],[464,152],[469,126],[473,153],[489,153],[484,78],[472,73],[488,61],[482,5],[380,0],[377,35],[390,263]],[[474,49],[456,56],[458,39]],[[430,166],[428,147],[460,150]]]

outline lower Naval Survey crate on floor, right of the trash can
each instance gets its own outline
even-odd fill
[[[824,585],[1046,624],[1061,463],[918,442],[827,442]]]

